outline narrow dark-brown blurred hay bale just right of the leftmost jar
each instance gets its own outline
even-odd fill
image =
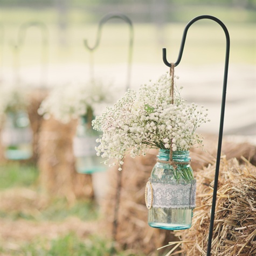
[[[29,106],[27,107],[27,114],[29,115],[30,126],[33,131],[33,142],[32,142],[32,161],[37,162],[38,160],[38,140],[39,131],[43,122],[43,116],[37,113],[37,110],[41,102],[45,99],[47,91],[43,89],[33,90],[29,98]]]

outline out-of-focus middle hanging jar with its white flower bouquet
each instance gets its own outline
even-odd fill
[[[75,168],[81,174],[92,174],[94,193],[101,197],[106,184],[106,165],[96,155],[96,139],[100,132],[92,127],[96,114],[116,99],[119,90],[108,82],[91,80],[86,83],[55,87],[41,103],[38,113],[47,119],[53,116],[61,123],[77,120],[77,132],[73,137]],[[103,184],[102,184],[103,183]]]

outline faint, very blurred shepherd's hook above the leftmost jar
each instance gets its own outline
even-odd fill
[[[20,25],[19,30],[18,30],[18,38],[17,38],[17,43],[13,44],[14,49],[16,50],[16,54],[19,53],[20,47],[22,47],[24,45],[24,41],[25,41],[25,36],[26,36],[26,31],[27,29],[29,29],[29,27],[32,26],[36,26],[39,27],[41,30],[41,86],[44,86],[44,78],[45,78],[45,74],[43,72],[43,65],[44,62],[47,61],[47,53],[46,53],[46,49],[49,46],[49,32],[48,29],[46,27],[46,25],[43,22],[26,22],[23,23],[22,25]],[[19,64],[17,64],[19,65]]]

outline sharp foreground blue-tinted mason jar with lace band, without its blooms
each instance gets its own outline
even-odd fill
[[[146,185],[148,224],[166,230],[189,229],[196,204],[196,180],[190,166],[189,151],[160,149]]]

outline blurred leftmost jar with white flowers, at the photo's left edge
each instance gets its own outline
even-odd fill
[[[1,87],[1,142],[9,160],[32,157],[33,132],[27,114],[26,88],[3,84]]]

